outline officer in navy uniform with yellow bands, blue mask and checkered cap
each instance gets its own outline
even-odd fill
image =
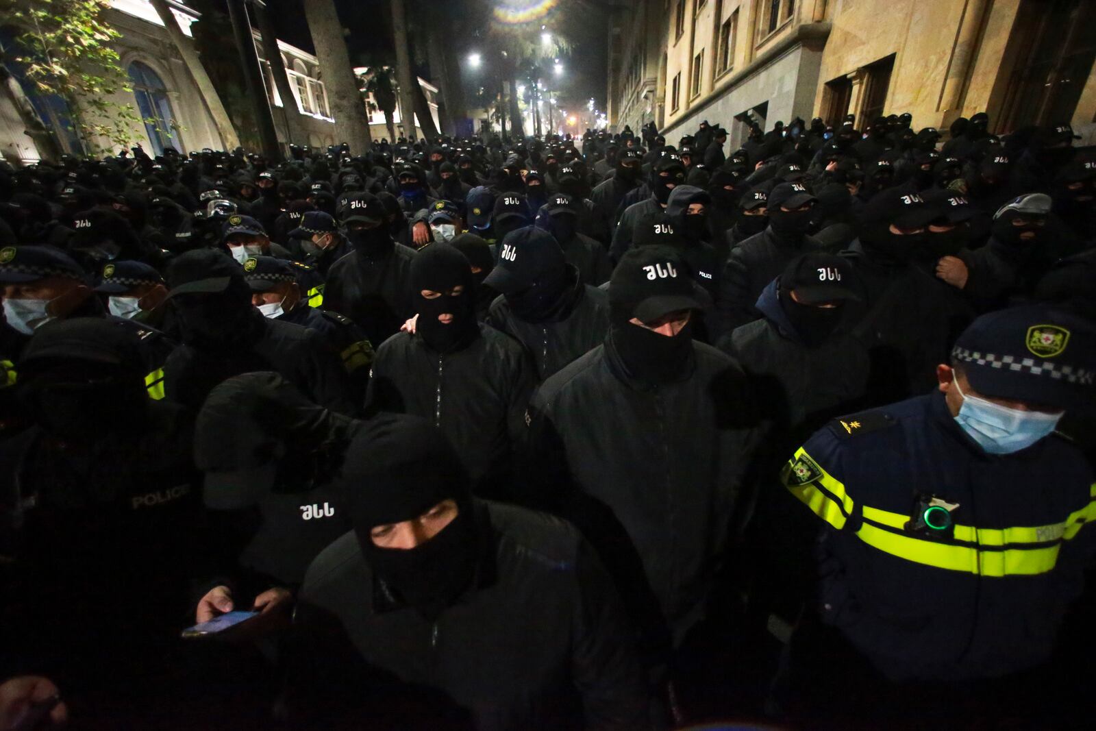
[[[800,697],[875,728],[914,709],[1050,722],[1071,712],[1048,661],[1096,539],[1093,471],[1055,427],[1092,398],[1096,341],[1028,306],[980,317],[950,359],[938,392],[836,419],[785,468],[823,528]]]

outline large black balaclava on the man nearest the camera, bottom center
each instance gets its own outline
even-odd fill
[[[480,537],[470,479],[439,429],[425,420],[385,414],[358,432],[347,449],[342,487],[362,555],[376,579],[429,621],[471,583]],[[411,549],[381,548],[370,532],[422,516],[453,500],[457,516]]]

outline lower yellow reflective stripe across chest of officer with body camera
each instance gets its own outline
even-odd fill
[[[1061,547],[1061,544],[1055,542],[1040,548],[981,551],[971,546],[955,546],[894,533],[867,522],[860,525],[856,535],[868,546],[906,561],[980,576],[1046,573],[1058,562],[1058,551]]]

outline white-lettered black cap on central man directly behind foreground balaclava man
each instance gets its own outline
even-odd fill
[[[711,297],[689,276],[678,249],[666,245],[629,249],[609,279],[609,301],[615,309],[642,322],[670,312],[704,309]]]

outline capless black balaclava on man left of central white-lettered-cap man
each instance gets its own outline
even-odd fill
[[[461,286],[459,295],[448,295]],[[418,306],[418,334],[431,350],[450,353],[466,347],[479,336],[476,322],[476,282],[471,265],[460,251],[445,243],[434,243],[419,252],[411,262],[411,287]],[[426,299],[423,289],[441,293],[441,297]],[[438,320],[449,313],[448,323]]]

